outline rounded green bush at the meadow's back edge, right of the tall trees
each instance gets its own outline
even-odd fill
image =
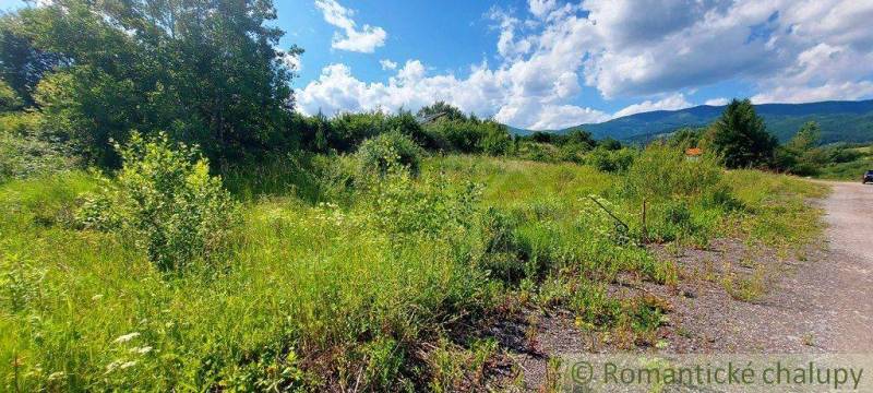
[[[388,168],[399,165],[414,176],[418,175],[422,154],[409,136],[396,131],[364,141],[357,153],[361,174],[385,175]]]

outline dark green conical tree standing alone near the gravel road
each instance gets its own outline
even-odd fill
[[[733,99],[725,108],[721,118],[711,127],[709,141],[729,168],[767,165],[778,145],[748,98]]]

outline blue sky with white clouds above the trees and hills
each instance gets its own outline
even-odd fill
[[[548,130],[658,109],[873,97],[873,0],[276,0],[297,109],[445,100]],[[21,7],[0,0],[0,9]]]

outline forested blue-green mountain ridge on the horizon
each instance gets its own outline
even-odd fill
[[[680,110],[656,110],[620,117],[601,123],[581,124],[557,133],[582,128],[595,138],[611,136],[625,142],[646,142],[682,127],[704,127],[715,121],[726,106],[701,105]],[[762,104],[755,110],[767,130],[787,141],[804,122],[817,121],[822,127],[822,142],[872,142],[873,99],[861,102],[821,102],[808,104]],[[511,129],[517,134],[531,131]]]

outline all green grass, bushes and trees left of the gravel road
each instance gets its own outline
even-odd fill
[[[302,116],[268,2],[146,3],[0,17],[2,390],[476,390],[523,310],[656,345],[669,306],[609,291],[682,279],[647,245],[817,236],[824,188],[752,169],[814,144],[748,100],[645,147]]]

